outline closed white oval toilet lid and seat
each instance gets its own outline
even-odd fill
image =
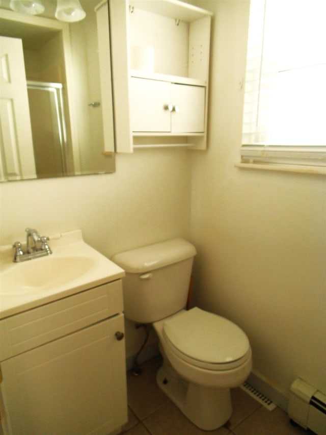
[[[181,358],[184,356],[185,361],[199,367],[237,367],[250,353],[249,340],[242,329],[197,307],[166,320],[163,334]]]

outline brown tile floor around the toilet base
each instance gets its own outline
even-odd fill
[[[127,435],[303,435],[280,408],[268,411],[239,388],[232,390],[233,414],[225,426],[204,431],[193,425],[156,385],[160,356],[142,365],[141,376],[127,373],[129,420]]]

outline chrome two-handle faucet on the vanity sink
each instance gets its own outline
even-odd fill
[[[19,263],[25,260],[33,260],[35,258],[43,257],[52,253],[47,241],[48,237],[39,235],[39,232],[34,228],[26,228],[26,252],[21,248],[20,242],[15,242],[14,262]]]

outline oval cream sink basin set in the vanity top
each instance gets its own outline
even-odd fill
[[[88,257],[43,257],[14,265],[1,276],[3,296],[21,296],[61,286],[95,266]],[[13,291],[14,289],[14,291]]]

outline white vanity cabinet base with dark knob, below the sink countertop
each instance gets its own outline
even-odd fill
[[[121,279],[0,321],[5,434],[118,433],[127,421]]]

